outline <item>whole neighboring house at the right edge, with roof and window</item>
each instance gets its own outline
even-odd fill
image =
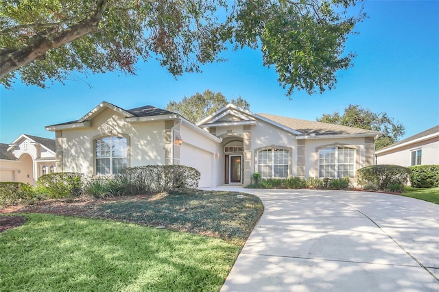
[[[439,125],[375,152],[377,165],[439,165]]]

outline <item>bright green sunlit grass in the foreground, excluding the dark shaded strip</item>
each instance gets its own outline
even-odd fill
[[[0,235],[2,291],[219,291],[240,249],[115,221],[25,216]]]

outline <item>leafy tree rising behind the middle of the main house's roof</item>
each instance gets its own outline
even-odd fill
[[[166,109],[181,114],[192,123],[201,121],[217,110],[224,108],[227,104],[234,104],[244,110],[250,110],[250,104],[241,97],[228,101],[222,93],[214,93],[211,90],[204,90],[204,93],[195,93],[191,97],[183,97],[182,101],[169,101]]]

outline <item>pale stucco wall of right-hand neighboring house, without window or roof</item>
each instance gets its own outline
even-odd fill
[[[412,151],[417,149],[422,149],[421,165],[439,165],[439,137],[377,154],[377,165],[409,167],[412,163]]]

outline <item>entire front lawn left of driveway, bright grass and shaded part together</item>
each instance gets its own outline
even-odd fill
[[[24,213],[0,233],[0,291],[219,291],[262,212],[252,195],[198,192],[93,218]]]

